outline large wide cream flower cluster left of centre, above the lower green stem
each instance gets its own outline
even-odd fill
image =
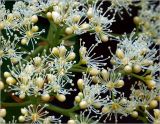
[[[73,75],[69,69],[75,63],[75,53],[72,48],[67,51],[63,45],[54,47],[51,52],[49,56],[37,56],[29,62],[12,65],[10,72],[4,73],[6,82],[10,85],[8,91],[21,99],[26,95],[34,95],[48,101],[49,94],[55,94],[58,99],[64,97],[65,100],[63,95],[72,91],[72,88],[66,89],[66,85],[72,85]]]

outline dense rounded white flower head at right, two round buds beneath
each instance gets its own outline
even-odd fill
[[[137,37],[135,32],[132,32],[129,37],[124,35],[119,41],[116,55],[111,52],[113,55],[111,63],[116,68],[128,73],[132,71],[139,73],[141,70],[148,70],[158,60],[155,45],[153,46],[151,39],[144,34]]]

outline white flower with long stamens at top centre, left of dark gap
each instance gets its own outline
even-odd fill
[[[97,42],[107,42],[108,36],[111,36],[110,33],[112,32],[110,30],[110,27],[114,20],[114,15],[110,15],[109,9],[103,10],[101,7],[103,5],[103,0],[98,3],[98,0],[96,2],[93,2],[92,6],[89,6],[87,10],[87,17],[89,19],[89,24],[91,29],[95,32],[93,34],[96,34],[96,40]],[[91,33],[92,34],[92,33]]]

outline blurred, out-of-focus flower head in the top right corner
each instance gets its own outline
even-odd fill
[[[146,35],[151,37],[154,43],[159,44],[160,39],[160,6],[150,5],[148,3],[146,6],[142,6],[142,9],[139,10],[139,15],[137,19],[138,26],[142,29]],[[135,22],[136,23],[136,22]]]

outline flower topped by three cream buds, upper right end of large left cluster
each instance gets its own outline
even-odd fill
[[[51,68],[53,68],[56,75],[60,78],[63,78],[67,82],[72,82],[70,77],[74,77],[74,75],[69,71],[71,67],[76,63],[74,60],[76,54],[73,51],[73,46],[70,50],[67,51],[67,48],[61,44],[58,47],[54,47],[52,49],[52,56],[48,59],[51,62]]]

